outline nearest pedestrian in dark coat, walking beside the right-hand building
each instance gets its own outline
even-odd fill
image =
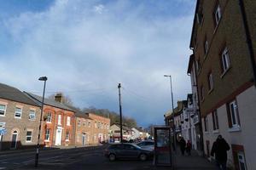
[[[211,156],[215,155],[216,164],[219,169],[226,170],[227,151],[230,150],[230,145],[221,135],[218,135],[216,141],[212,144]]]

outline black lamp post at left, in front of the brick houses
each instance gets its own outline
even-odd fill
[[[39,81],[44,81],[44,92],[43,92],[43,99],[42,99],[42,106],[41,106],[41,114],[40,114],[40,123],[39,123],[39,130],[38,130],[38,145],[37,145],[37,153],[35,158],[35,167],[38,167],[38,157],[39,157],[39,140],[40,140],[40,133],[41,133],[41,123],[42,123],[42,117],[43,117],[43,109],[44,109],[44,93],[45,93],[45,84],[47,81],[47,77],[40,77],[38,78]]]

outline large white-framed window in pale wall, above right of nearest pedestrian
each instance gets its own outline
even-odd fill
[[[230,127],[239,127],[239,114],[238,114],[238,107],[236,103],[236,99],[231,101],[227,105],[228,109],[228,117],[229,117],[229,126]]]

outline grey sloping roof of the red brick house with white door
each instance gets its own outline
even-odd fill
[[[39,105],[42,104],[43,98],[41,96],[38,96],[36,94],[27,93],[27,92],[24,92],[24,93],[26,93],[32,99],[36,100]],[[54,99],[44,98],[44,105],[50,105],[50,106],[57,107],[57,108],[60,108],[63,110],[73,111],[73,109],[67,107],[67,105],[61,104],[60,102],[57,102]],[[75,112],[75,111],[73,111],[73,112]]]

